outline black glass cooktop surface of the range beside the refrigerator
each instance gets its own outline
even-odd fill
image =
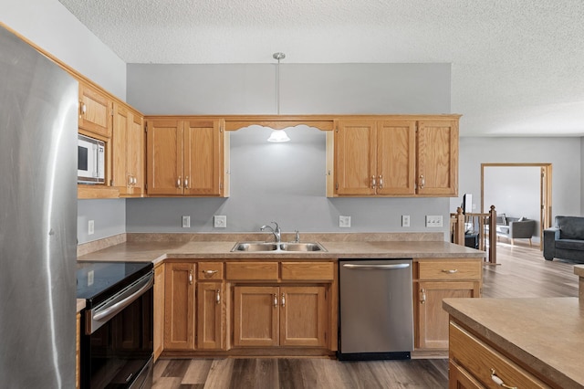
[[[116,292],[151,272],[151,262],[80,261],[77,263],[77,298],[87,308],[109,299]]]

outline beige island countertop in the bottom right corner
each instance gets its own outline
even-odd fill
[[[584,304],[578,298],[444,299],[443,309],[559,387],[584,387]]]

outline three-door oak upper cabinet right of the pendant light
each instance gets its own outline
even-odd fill
[[[454,115],[340,120],[327,152],[328,196],[458,194]]]

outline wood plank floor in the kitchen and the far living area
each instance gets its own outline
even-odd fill
[[[536,247],[497,244],[500,265],[484,267],[484,298],[577,297],[573,264],[544,260]],[[339,362],[326,358],[161,359],[154,389],[445,388],[445,359]]]

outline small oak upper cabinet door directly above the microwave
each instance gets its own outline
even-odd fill
[[[112,104],[105,93],[79,81],[79,128],[110,139]]]

